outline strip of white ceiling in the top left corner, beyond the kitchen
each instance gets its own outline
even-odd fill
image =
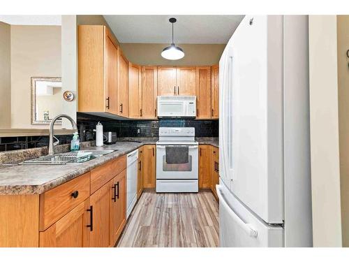
[[[20,25],[61,25],[61,15],[0,15],[0,22]]]

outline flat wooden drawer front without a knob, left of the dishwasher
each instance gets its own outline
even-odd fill
[[[100,189],[103,184],[126,168],[126,155],[109,161],[103,166],[91,170],[91,194]]]

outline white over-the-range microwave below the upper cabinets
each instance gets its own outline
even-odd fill
[[[158,117],[195,117],[196,96],[158,96]]]

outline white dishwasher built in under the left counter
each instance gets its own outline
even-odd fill
[[[131,214],[137,202],[137,171],[138,171],[138,150],[127,154],[127,183],[126,183],[126,218]]]

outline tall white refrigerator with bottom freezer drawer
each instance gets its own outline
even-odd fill
[[[219,62],[221,247],[311,247],[306,15],[246,15]]]

